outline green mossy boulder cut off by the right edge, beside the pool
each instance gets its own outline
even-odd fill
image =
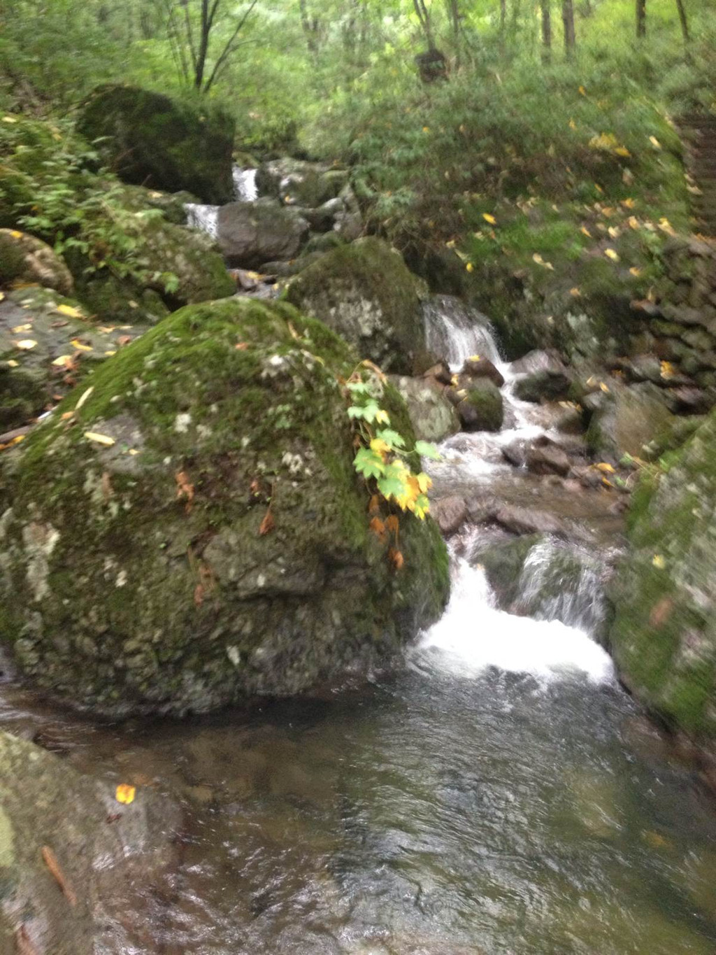
[[[626,684],[695,735],[716,735],[716,415],[660,479],[644,480],[632,550],[613,587],[612,644]]]

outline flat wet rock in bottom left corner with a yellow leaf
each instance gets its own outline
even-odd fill
[[[152,791],[137,789],[122,805],[104,783],[0,732],[0,926],[25,944],[10,951],[123,950],[122,887],[149,888],[173,859],[178,828],[176,811]]]

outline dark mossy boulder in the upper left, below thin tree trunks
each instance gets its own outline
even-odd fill
[[[178,102],[136,86],[98,87],[82,108],[78,132],[127,182],[230,202],[234,121],[208,106]]]

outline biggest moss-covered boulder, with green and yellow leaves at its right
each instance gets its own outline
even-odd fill
[[[430,624],[444,544],[401,518],[396,573],[369,532],[337,381],[355,362],[294,308],[229,299],[95,371],[24,443],[0,519],[17,666],[102,711],[207,711],[375,665]]]

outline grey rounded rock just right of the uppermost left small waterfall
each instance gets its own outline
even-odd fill
[[[307,238],[305,219],[274,200],[229,202],[219,210],[218,240],[229,265],[295,259]]]

